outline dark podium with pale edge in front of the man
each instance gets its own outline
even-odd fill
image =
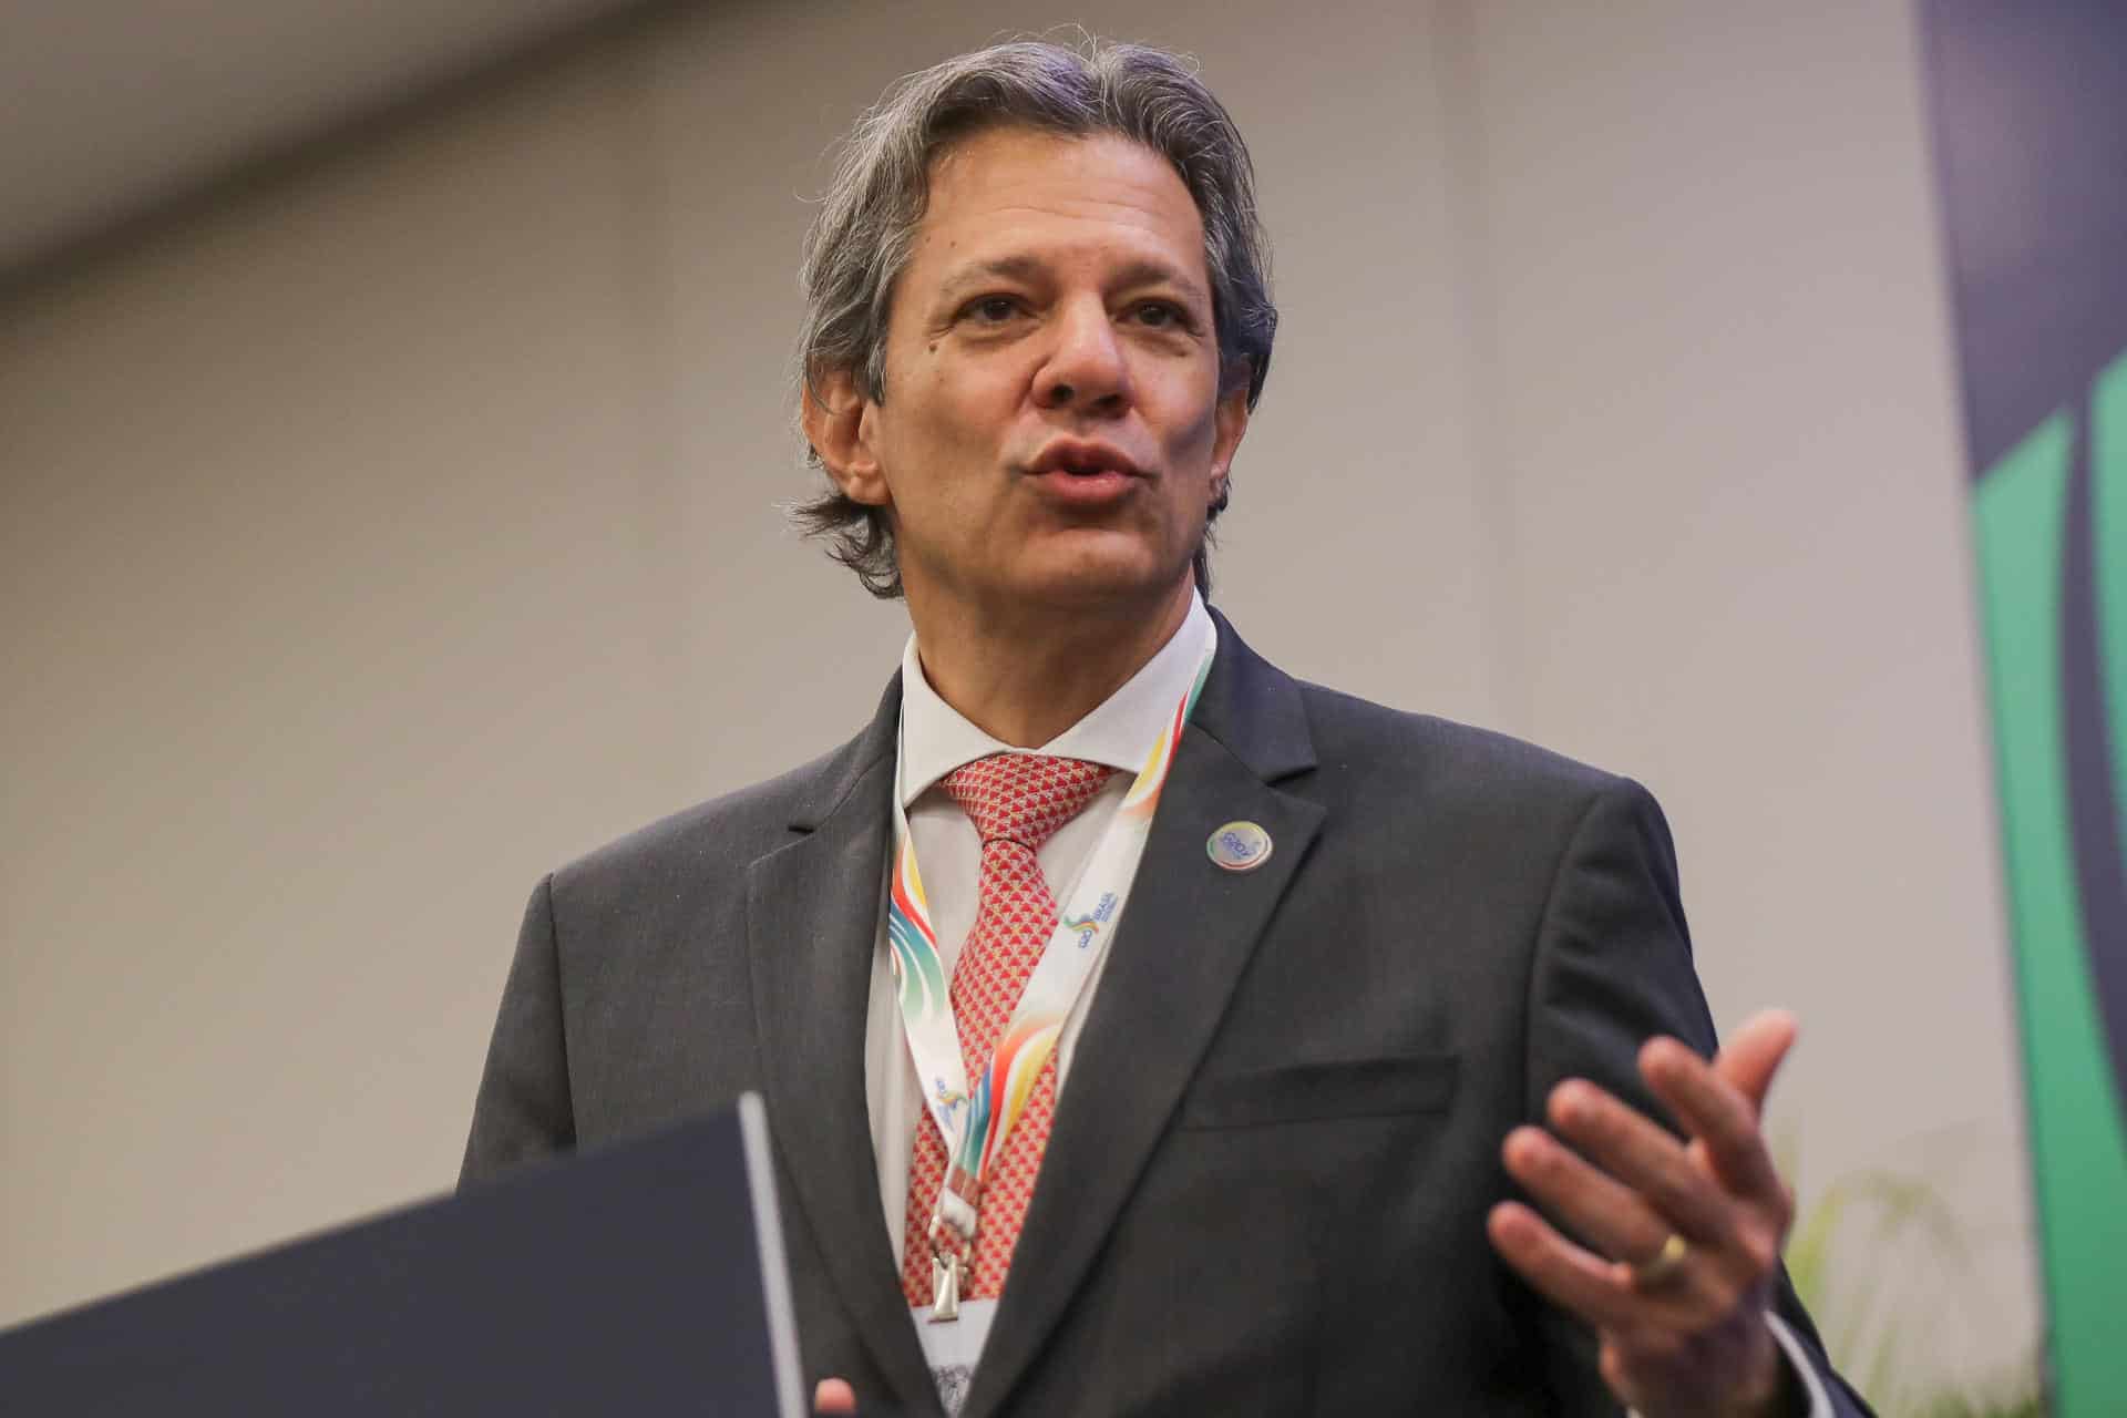
[[[0,1414],[798,1418],[757,1097],[0,1333]]]

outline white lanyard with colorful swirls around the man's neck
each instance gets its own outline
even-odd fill
[[[893,948],[893,984],[900,993],[908,1052],[915,1057],[917,1078],[923,1080],[923,1103],[938,1122],[947,1154],[944,1186],[938,1188],[938,1210],[932,1212],[929,1225],[932,1320],[959,1318],[959,1286],[974,1254],[983,1180],[991,1165],[1004,1157],[1004,1140],[1019,1114],[1025,1112],[1027,1099],[1034,1097],[1034,1082],[1055,1052],[1064,1018],[1078,999],[1078,991],[1085,989],[1087,976],[1100,959],[1100,948],[1106,946],[1123,914],[1132,878],[1138,874],[1138,859],[1144,855],[1144,838],[1153,829],[1159,789],[1166,787],[1168,770],[1174,765],[1174,746],[1180,742],[1183,725],[1189,721],[1189,710],[1195,708],[1217,651],[1219,636],[1208,631],[1189,693],[1180,697],[1159,738],[1153,740],[1144,767],[1129,784],[1123,806],[1117,808],[1115,821],[1078,874],[1064,910],[1057,912],[1049,946],[1042,948],[1042,959],[1019,995],[1019,1006],[1004,1033],[998,1035],[998,1048],[972,1093],[966,1063],[959,1057],[959,1031],[953,1025],[944,963],[938,959],[938,933],[932,929],[929,906],[923,899],[917,842],[908,831],[902,795],[893,793],[893,882],[887,889],[887,942]]]

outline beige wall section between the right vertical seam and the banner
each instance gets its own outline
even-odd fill
[[[1984,1276],[1855,1233],[1846,1297],[1984,1369],[2036,1301],[1916,26],[1470,13],[1508,714],[1663,799],[1716,1016],[1804,1020],[1804,1193],[1927,1180]]]

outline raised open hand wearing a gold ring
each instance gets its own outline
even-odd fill
[[[1712,1063],[1651,1040],[1640,1074],[1687,1142],[1565,1080],[1548,1099],[1557,1137],[1517,1127],[1502,1148],[1508,1174],[1587,1246],[1502,1201],[1493,1248],[1595,1327],[1604,1382],[1644,1418],[1802,1412],[1765,1322],[1795,1199],[1759,1131],[1793,1042],[1795,1020],[1778,1010],[1753,1016]]]

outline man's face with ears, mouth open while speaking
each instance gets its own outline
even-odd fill
[[[885,400],[840,480],[891,506],[917,612],[1155,612],[1246,421],[1174,168],[1125,138],[993,130],[932,172]]]

